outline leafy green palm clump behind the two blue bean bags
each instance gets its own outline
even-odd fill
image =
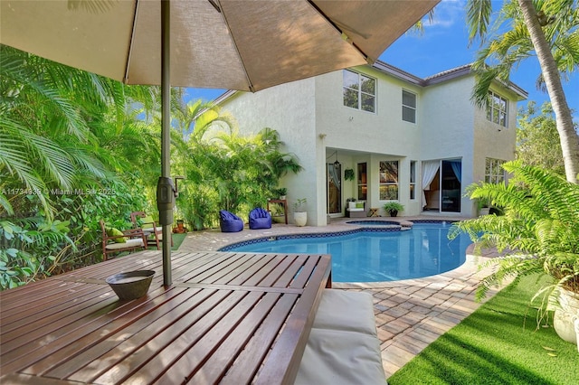
[[[223,120],[212,110],[213,122]],[[202,115],[204,117],[204,115]],[[277,193],[280,178],[301,166],[295,155],[283,153],[277,131],[264,128],[256,136],[240,136],[237,130],[217,127],[210,130],[210,119],[202,120],[201,133],[195,130],[186,141],[176,139],[174,164],[185,176],[179,184],[176,215],[188,228],[202,230],[218,225],[220,210],[247,219],[255,207],[265,207]],[[211,135],[209,135],[211,133]]]

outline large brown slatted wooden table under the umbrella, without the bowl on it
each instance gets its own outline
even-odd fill
[[[292,383],[328,255],[174,253],[111,259],[0,293],[0,383]],[[157,272],[120,301],[104,279]]]

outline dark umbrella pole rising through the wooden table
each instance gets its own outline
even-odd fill
[[[171,178],[171,77],[170,77],[170,2],[161,1],[161,177]],[[173,223],[173,205],[169,207],[168,219],[163,226],[163,284],[171,286],[171,224]]]

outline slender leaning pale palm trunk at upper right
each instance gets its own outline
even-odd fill
[[[551,47],[546,42],[545,34],[536,17],[536,9],[531,0],[518,0],[518,5],[523,13],[523,19],[527,24],[527,30],[531,42],[535,47],[536,57],[543,72],[547,93],[551,99],[551,105],[555,111],[555,122],[561,149],[563,150],[563,162],[567,181],[579,183],[579,136],[574,130],[571,110],[565,99],[565,92],[561,85],[559,71],[551,52]]]

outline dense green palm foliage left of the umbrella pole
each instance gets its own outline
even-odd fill
[[[98,260],[98,221],[144,208],[157,134],[128,106],[154,95],[0,45],[0,288]]]

